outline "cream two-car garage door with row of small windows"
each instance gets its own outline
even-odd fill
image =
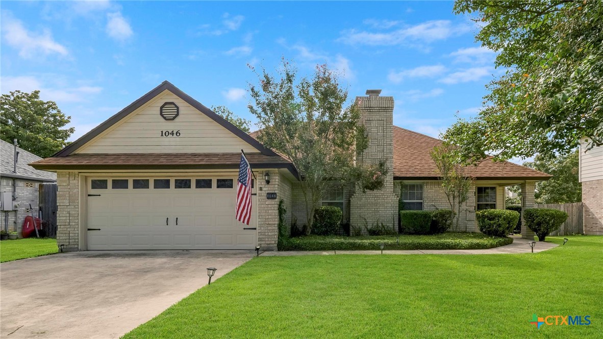
[[[87,180],[89,250],[254,249],[256,198],[235,219],[236,177]]]

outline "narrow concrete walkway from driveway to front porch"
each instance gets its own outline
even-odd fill
[[[420,255],[420,254],[516,254],[516,253],[531,253],[529,240],[522,239],[520,236],[511,236],[513,243],[505,246],[495,247],[494,249],[485,250],[384,250],[383,254],[389,255]],[[551,242],[537,241],[534,247],[534,253],[550,250],[557,247],[557,244]],[[334,254],[363,254],[377,255],[381,254],[380,250],[376,251],[282,251],[282,252],[264,252],[262,256],[295,256],[295,255],[334,255]]]

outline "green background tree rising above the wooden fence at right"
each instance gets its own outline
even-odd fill
[[[578,182],[578,150],[567,155],[546,157],[538,154],[523,166],[551,174],[549,180],[536,183],[534,198],[538,204],[564,204],[582,201],[582,186]]]

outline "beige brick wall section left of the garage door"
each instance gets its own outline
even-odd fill
[[[80,175],[57,172],[57,244],[78,250],[80,241]]]

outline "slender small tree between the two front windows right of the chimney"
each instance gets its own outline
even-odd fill
[[[455,212],[455,221],[452,229],[458,232],[461,208],[469,199],[469,190],[475,178],[470,176],[469,167],[462,164],[458,147],[454,145],[444,142],[441,145],[435,146],[431,150],[431,158],[438,168],[438,177],[442,183],[442,189],[444,194],[446,194],[450,209]],[[467,232],[467,229],[465,229],[465,232]]]

